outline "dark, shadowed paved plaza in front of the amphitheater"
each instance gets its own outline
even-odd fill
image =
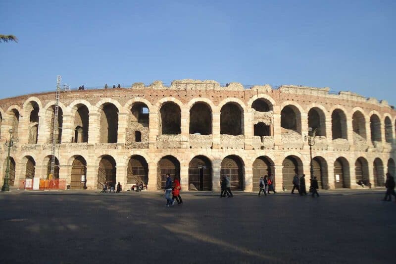
[[[321,194],[0,194],[0,263],[394,263],[394,200]]]

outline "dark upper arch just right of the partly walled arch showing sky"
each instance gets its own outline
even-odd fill
[[[162,135],[176,135],[181,133],[181,110],[173,102],[166,102],[159,110],[160,129]]]

